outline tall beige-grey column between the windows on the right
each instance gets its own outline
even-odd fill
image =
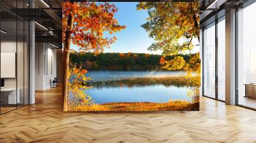
[[[236,10],[226,12],[226,103],[236,104]]]

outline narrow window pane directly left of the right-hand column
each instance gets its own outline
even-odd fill
[[[218,22],[218,99],[225,101],[225,19]]]

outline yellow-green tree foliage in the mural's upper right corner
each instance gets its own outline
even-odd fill
[[[199,2],[141,2],[138,10],[148,10],[143,27],[156,41],[149,50],[162,50],[172,56],[193,49],[199,41]]]

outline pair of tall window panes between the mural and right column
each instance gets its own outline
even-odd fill
[[[203,30],[203,96],[225,101],[225,16]]]

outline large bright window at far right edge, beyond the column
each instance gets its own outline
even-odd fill
[[[256,3],[237,12],[237,86],[238,104],[256,109]]]

